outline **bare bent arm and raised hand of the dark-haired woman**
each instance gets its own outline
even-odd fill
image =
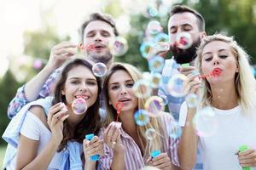
[[[38,118],[44,123],[45,126],[49,126],[51,131],[51,138],[49,143],[44,146],[44,149],[38,153],[39,144],[39,132],[38,140],[29,139],[22,134],[20,135],[18,151],[17,151],[17,163],[16,169],[47,169],[50,161],[55,155],[61,140],[63,139],[62,129],[63,121],[67,119],[67,110],[61,110],[63,105],[56,104],[49,109],[48,120],[44,114],[44,110],[41,107],[32,107],[30,110],[32,114],[38,116]],[[61,117],[58,119],[58,117]],[[27,122],[26,122],[27,124]],[[48,124],[48,125],[47,125]],[[32,126],[34,131],[38,131],[37,126]],[[24,131],[26,132],[26,128]]]

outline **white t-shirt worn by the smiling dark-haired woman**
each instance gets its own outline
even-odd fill
[[[38,140],[38,154],[44,150],[46,144],[49,143],[49,139],[51,137],[51,133],[47,127],[44,126],[44,123],[41,120],[32,114],[32,112],[27,111],[26,118],[23,122],[23,125],[20,129],[20,133],[23,136],[26,136],[28,139]],[[13,169],[16,164],[16,156],[10,163],[7,169]],[[61,167],[61,153],[56,152],[55,156],[49,163],[48,170],[55,170]]]

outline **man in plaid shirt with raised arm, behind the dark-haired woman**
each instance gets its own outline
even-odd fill
[[[86,20],[81,28],[83,47],[93,47],[86,50],[86,57],[94,62],[102,62],[107,67],[111,65],[113,55],[108,48],[108,42],[119,35],[113,18],[108,14],[90,14],[90,19]],[[49,96],[55,79],[61,73],[61,65],[76,54],[77,50],[77,44],[72,42],[61,42],[55,45],[51,49],[49,61],[44,69],[17,90],[15,98],[9,104],[9,118],[15,116],[27,103]]]

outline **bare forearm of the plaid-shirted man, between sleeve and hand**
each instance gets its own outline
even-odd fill
[[[28,101],[37,99],[40,89],[43,87],[44,82],[46,82],[53,71],[54,70],[51,68],[44,67],[37,76],[33,77],[29,82],[26,82],[25,94]]]

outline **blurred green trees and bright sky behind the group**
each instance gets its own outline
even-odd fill
[[[1,0],[1,136],[9,123],[7,107],[17,88],[44,67],[55,44],[62,41],[79,44],[79,27],[91,13],[112,14],[121,36],[127,40],[128,51],[115,60],[148,71],[148,61],[143,57],[143,42],[159,33],[162,34],[158,38],[166,39],[169,11],[177,3],[195,8],[204,16],[208,35],[224,32],[235,36],[251,56],[252,66],[256,65],[255,0]],[[157,35],[150,33],[149,23],[154,28],[155,24],[160,26]],[[148,35],[148,27],[151,35]],[[1,138],[0,167],[5,147],[6,143]]]

